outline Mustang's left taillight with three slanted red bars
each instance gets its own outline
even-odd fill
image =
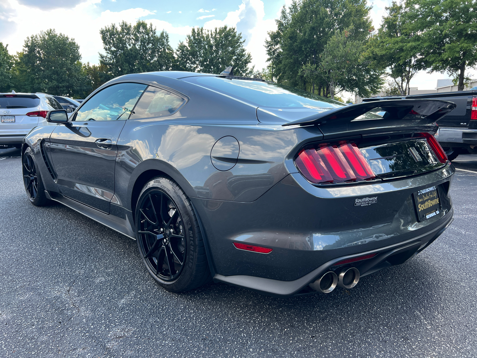
[[[295,163],[312,183],[342,183],[371,180],[376,177],[355,143],[322,143],[318,148],[301,150]]]

